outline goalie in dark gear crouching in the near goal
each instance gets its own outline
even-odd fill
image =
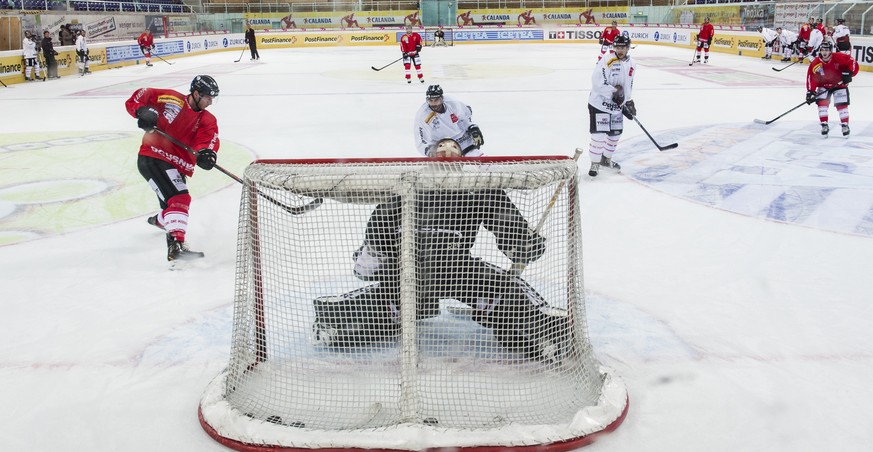
[[[460,157],[456,141],[442,140],[430,157]],[[559,359],[569,339],[566,316],[549,313],[540,294],[517,273],[474,257],[480,226],[513,263],[539,259],[546,239],[532,231],[503,190],[422,192],[416,195],[417,319],[439,315],[439,300],[472,308],[507,350],[543,361]],[[355,276],[375,284],[314,300],[317,344],[352,347],[400,334],[400,199],[378,205],[355,252]]]

